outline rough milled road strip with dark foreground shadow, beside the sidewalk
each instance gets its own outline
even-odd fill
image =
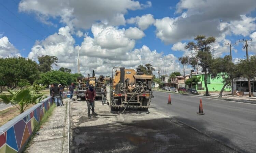
[[[164,103],[165,107],[171,107]],[[153,104],[157,106],[156,102]],[[150,108],[149,112],[128,110],[118,115],[110,112],[108,105],[96,101],[95,112],[99,115],[88,119],[86,102],[73,101],[70,103],[70,152],[236,152],[165,115],[160,107]]]

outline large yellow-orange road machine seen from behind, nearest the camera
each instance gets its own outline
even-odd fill
[[[114,69],[116,69],[115,72]],[[135,71],[124,67],[114,67],[112,78],[110,86],[111,111],[127,107],[148,111],[153,98],[152,75],[145,75],[140,68]]]

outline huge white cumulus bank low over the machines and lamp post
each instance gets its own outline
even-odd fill
[[[80,72],[83,75],[91,74],[93,70],[97,75],[110,75],[115,66],[136,69],[138,65],[147,63],[151,63],[155,68],[161,66],[169,71],[180,69],[177,58],[172,54],[163,55],[156,50],[150,50],[147,46],[134,49],[135,40],[126,38],[125,29],[99,24],[93,25],[91,29],[94,37],[86,36],[81,46],[74,48],[75,41],[70,34],[71,29],[68,26],[62,27],[58,33],[37,41],[28,57],[37,60],[41,55],[57,56],[58,66],[54,67],[55,69],[66,67],[72,72],[77,72],[77,51],[79,50]],[[119,39],[127,43],[119,45]],[[154,73],[157,74],[157,71]]]

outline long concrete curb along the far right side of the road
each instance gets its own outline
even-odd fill
[[[153,91],[172,93],[172,94],[177,94],[177,95],[186,95],[186,96],[193,96],[193,97],[202,97],[202,98],[209,98],[209,99],[225,100],[225,101],[230,101],[230,102],[241,102],[241,103],[256,104],[256,100],[227,99],[227,98],[218,98],[218,97],[202,96],[202,95],[191,95],[191,94],[186,94],[186,93],[176,93],[176,92],[159,91],[159,90],[153,90]]]

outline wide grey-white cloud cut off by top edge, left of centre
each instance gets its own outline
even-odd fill
[[[88,29],[98,21],[117,26],[124,25],[124,14],[128,10],[139,10],[151,7],[150,1],[141,4],[132,0],[108,1],[70,1],[70,0],[22,0],[19,11],[36,14],[43,23],[53,24],[49,18],[60,17],[60,22],[71,29]]]

